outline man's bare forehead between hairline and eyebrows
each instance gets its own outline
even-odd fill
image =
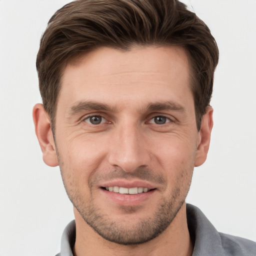
[[[102,47],[68,63],[63,71],[59,103],[83,100],[124,106],[191,96],[189,62],[178,46]],[[131,103],[132,102],[132,103]]]

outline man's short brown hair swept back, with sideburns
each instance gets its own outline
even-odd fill
[[[178,0],[76,0],[57,10],[40,40],[39,89],[52,129],[60,79],[71,58],[101,46],[179,45],[191,66],[196,125],[209,105],[218,48],[207,25]]]

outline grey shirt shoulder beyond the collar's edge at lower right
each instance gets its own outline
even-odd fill
[[[219,236],[226,255],[256,256],[256,242],[224,233]]]

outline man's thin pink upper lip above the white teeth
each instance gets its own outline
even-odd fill
[[[103,182],[100,187],[119,186],[119,187],[146,187],[148,189],[156,188],[153,184],[150,184],[144,180],[111,180]]]

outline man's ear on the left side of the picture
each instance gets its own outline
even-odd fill
[[[58,160],[50,127],[50,118],[42,104],[34,105],[33,121],[35,134],[42,150],[43,161],[49,166],[57,166]]]

